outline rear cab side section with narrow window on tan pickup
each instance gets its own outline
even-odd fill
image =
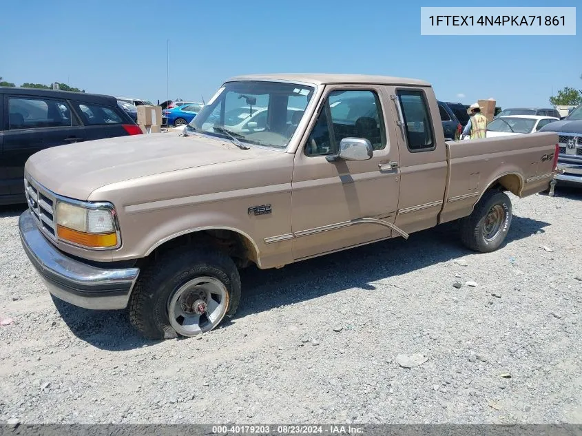
[[[399,120],[400,196],[395,225],[412,232],[437,225],[448,164],[439,107],[430,87],[386,87]]]

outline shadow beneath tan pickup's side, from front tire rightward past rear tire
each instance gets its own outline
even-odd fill
[[[515,240],[543,233],[548,225],[548,222],[513,216],[510,233],[500,250]],[[408,240],[394,238],[375,242],[284,269],[248,269],[241,273],[243,295],[235,318],[344,289],[373,290],[371,282],[386,278],[395,277],[398,284],[398,276],[468,254],[476,253],[461,245],[458,224],[453,222],[413,233]]]

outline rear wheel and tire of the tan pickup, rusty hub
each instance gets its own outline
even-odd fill
[[[507,194],[488,190],[472,214],[461,218],[461,242],[473,251],[495,251],[505,240],[511,220],[512,206]]]

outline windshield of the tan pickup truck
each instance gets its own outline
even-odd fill
[[[315,88],[267,81],[227,82],[188,124],[189,130],[242,143],[284,149],[295,133]],[[217,127],[217,129],[214,129]]]

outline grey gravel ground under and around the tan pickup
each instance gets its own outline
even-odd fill
[[[512,200],[495,253],[445,225],[249,269],[234,320],[165,342],[53,301],[0,209],[0,422],[582,423],[582,194]]]

